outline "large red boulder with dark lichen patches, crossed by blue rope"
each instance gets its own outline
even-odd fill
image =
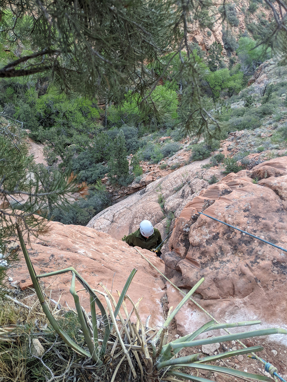
[[[174,223],[165,272],[180,288],[204,277],[196,300],[219,321],[261,320],[265,327],[286,328],[287,253],[197,212],[287,249],[286,174],[287,157],[231,173],[188,202]],[[263,179],[254,184],[254,176]],[[167,296],[173,306],[181,299],[170,288]],[[176,316],[182,334],[200,319],[195,305]]]

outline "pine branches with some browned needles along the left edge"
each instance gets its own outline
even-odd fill
[[[31,173],[28,167],[33,157],[28,154],[24,131],[19,121],[0,115],[0,284],[10,261],[15,259],[7,251],[15,238],[16,223],[23,232],[39,235],[49,230],[45,217],[52,203],[67,208],[68,196],[73,192],[87,194],[85,185],[77,186],[76,177],[67,169],[56,173],[49,166],[49,189],[41,183],[41,174]],[[46,174],[47,175],[47,174]],[[41,216],[40,216],[41,215]]]

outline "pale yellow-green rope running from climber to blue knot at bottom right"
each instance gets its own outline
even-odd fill
[[[176,286],[168,277],[166,277],[166,275],[164,275],[159,269],[157,269],[157,267],[155,265],[152,264],[152,262],[150,262],[148,260],[147,257],[145,257],[140,251],[139,249],[135,248],[135,250],[137,252],[139,252],[139,254],[150,264],[152,265],[152,267],[157,270],[157,272],[166,279],[166,281],[168,281],[174,288],[176,288],[180,293],[182,293],[184,296],[186,296],[186,293],[184,293],[184,291],[182,291],[180,288],[178,288],[178,286]],[[201,305],[199,305],[199,303],[197,303],[193,298],[189,298],[199,309],[201,309],[208,317],[210,317],[212,320],[214,320],[214,322],[216,322],[216,324],[220,324],[219,321],[217,321],[217,319],[215,319],[209,312],[207,312],[204,308],[202,308]],[[228,334],[232,334],[228,329],[226,328],[223,328],[223,330],[225,330],[225,332],[227,332]],[[237,343],[239,343],[241,346],[243,346],[244,348],[247,348],[246,345],[244,345],[243,342],[241,342],[240,340],[235,340]],[[275,381],[277,381],[277,377],[282,381],[282,382],[287,382],[285,381],[282,377],[279,376],[279,374],[277,374],[277,369],[275,366],[273,366],[271,363],[269,362],[266,362],[264,361],[262,358],[258,357],[255,353],[251,353],[252,354],[252,357],[251,358],[254,358],[254,359],[257,359],[257,361],[261,362],[262,364],[264,364],[264,368],[267,372],[269,372],[269,374],[274,378]]]

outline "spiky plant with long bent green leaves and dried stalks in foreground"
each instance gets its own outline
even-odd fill
[[[229,376],[239,377],[241,379],[254,379],[266,382],[274,381],[273,379],[264,375],[251,374],[229,367],[222,367],[211,364],[212,362],[223,358],[261,351],[263,350],[263,347],[261,346],[252,346],[235,351],[227,351],[212,356],[205,356],[202,353],[191,354],[189,356],[179,356],[179,353],[185,348],[191,348],[194,346],[199,347],[205,344],[217,342],[222,343],[225,341],[240,340],[243,338],[258,337],[276,333],[287,334],[287,330],[280,328],[262,329],[198,339],[199,335],[210,330],[256,325],[261,323],[260,321],[245,321],[232,324],[215,324],[214,320],[211,320],[210,322],[202,325],[202,327],[197,329],[195,332],[190,333],[184,337],[180,337],[172,342],[166,343],[168,338],[168,327],[171,321],[174,319],[183,305],[191,298],[192,294],[196,291],[199,285],[202,284],[204,278],[202,278],[199,282],[196,283],[196,285],[194,285],[194,287],[189,291],[189,293],[187,293],[186,296],[184,296],[182,301],[178,304],[178,306],[176,306],[174,310],[171,311],[172,308],[170,309],[168,312],[168,317],[159,329],[150,329],[148,327],[148,322],[143,324],[142,320],[140,319],[138,311],[140,299],[137,301],[137,303],[134,303],[126,294],[129,285],[132,282],[132,278],[137,272],[136,269],[133,269],[130,273],[122,293],[117,292],[119,300],[116,302],[113,295],[103,285],[101,286],[103,287],[104,291],[99,291],[91,288],[73,267],[57,270],[47,274],[36,275],[28,255],[23,236],[18,226],[17,232],[24,258],[28,266],[29,274],[33,282],[33,286],[41,303],[42,309],[46,314],[47,319],[51,323],[53,329],[67,344],[67,346],[85,358],[86,363],[90,362],[93,367],[100,368],[107,362],[116,362],[116,367],[114,369],[111,382],[114,382],[116,374],[124,360],[128,363],[134,380],[140,380],[141,382],[143,382],[143,380],[151,382],[155,379],[177,381],[178,379],[176,378],[199,382],[205,382],[209,380],[199,376],[194,376],[192,372],[195,370],[197,375],[197,371],[207,370],[210,372],[217,372],[227,374]],[[75,301],[78,320],[80,322],[81,330],[83,333],[85,342],[83,346],[78,345],[78,343],[76,343],[60,327],[52,312],[49,310],[44,299],[44,294],[42,293],[41,287],[39,285],[40,278],[59,275],[65,272],[72,273],[70,293],[72,294]],[[79,297],[75,290],[76,279],[81,283],[84,290],[90,294],[90,316],[86,314],[85,310],[80,305]],[[101,298],[106,302],[106,308],[100,301],[99,296],[101,296]],[[132,304],[132,311],[130,313],[127,310],[125,300],[130,301]],[[100,334],[97,327],[98,317],[96,316],[96,305],[101,312],[101,322],[103,322],[103,330],[101,330]],[[122,308],[122,311],[124,311],[126,318],[122,316],[120,308]],[[131,321],[131,316],[133,313],[137,318],[136,324]],[[182,369],[184,368],[186,370],[187,367],[191,370],[191,374],[182,372]]]

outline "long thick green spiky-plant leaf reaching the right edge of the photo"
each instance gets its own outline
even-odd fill
[[[174,343],[172,347],[175,350],[177,350],[178,348],[188,348],[190,346],[200,346],[200,345],[205,345],[208,343],[241,340],[242,338],[259,337],[262,335],[269,335],[269,334],[287,334],[287,330],[281,329],[281,328],[252,330],[250,332],[228,334],[228,335],[222,335],[218,337],[203,338],[201,340],[196,340],[196,341]],[[161,353],[163,353],[163,351],[164,349],[161,351]]]

